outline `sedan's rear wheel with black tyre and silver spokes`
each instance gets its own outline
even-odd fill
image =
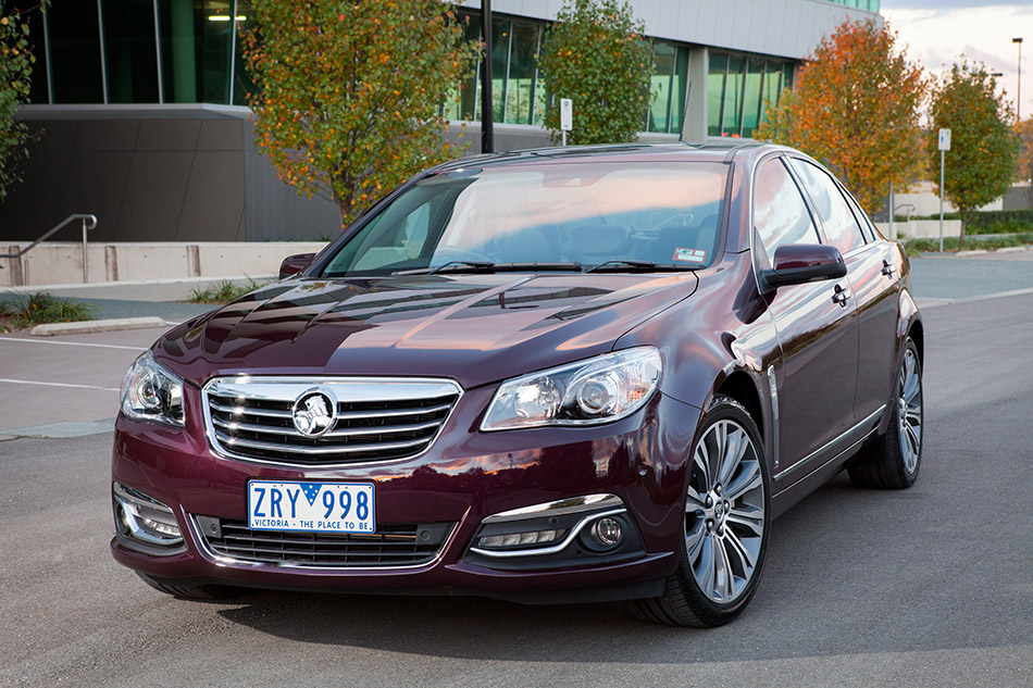
[[[922,360],[910,338],[894,385],[896,395],[888,429],[847,467],[856,487],[900,490],[914,485],[918,478],[924,437]]]

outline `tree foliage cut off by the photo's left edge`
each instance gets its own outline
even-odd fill
[[[18,12],[4,13],[0,2],[0,201],[21,182],[18,163],[28,158],[26,143],[32,135],[14,113],[28,102],[33,64],[28,48],[28,21]]]

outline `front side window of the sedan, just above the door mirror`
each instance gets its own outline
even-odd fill
[[[754,227],[768,264],[783,243],[821,243],[807,203],[779,158],[760,164],[754,182]]]

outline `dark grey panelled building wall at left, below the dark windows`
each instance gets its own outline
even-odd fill
[[[40,136],[0,204],[0,241],[36,239],[72,213],[97,215],[92,241],[336,236],[336,205],[277,178],[249,116],[214,105],[24,108],[18,118]]]

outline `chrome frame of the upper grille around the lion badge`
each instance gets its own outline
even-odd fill
[[[370,461],[349,461],[343,463],[301,463],[301,462],[291,462],[286,459],[256,459],[253,456],[246,456],[244,454],[238,454],[232,451],[226,447],[217,436],[215,424],[212,421],[211,405],[209,400],[209,392],[213,389],[217,389],[220,385],[233,386],[233,385],[248,385],[250,399],[270,399],[276,401],[285,401],[284,392],[276,395],[272,391],[272,388],[279,386],[279,389],[284,389],[283,386],[289,386],[291,388],[297,388],[297,393],[294,396],[304,393],[306,390],[316,387],[328,387],[335,391],[341,391],[341,388],[351,387],[352,392],[356,390],[361,390],[365,392],[365,396],[354,397],[349,396],[348,393],[337,393],[337,401],[405,401],[406,399],[426,399],[428,396],[433,398],[434,392],[428,392],[427,395],[414,393],[412,390],[418,386],[425,388],[437,387],[438,392],[444,391],[445,393],[456,395],[456,400],[451,404],[451,409],[448,414],[441,418],[440,427],[438,431],[427,441],[427,446],[423,451],[412,454],[411,456],[400,456],[395,459],[374,459]],[[263,389],[263,386],[265,389]],[[366,388],[370,391],[366,391]],[[407,393],[408,391],[408,393]],[[217,377],[210,378],[201,387],[201,406],[204,415],[204,435],[208,438],[208,445],[211,450],[219,456],[233,459],[235,461],[244,461],[247,463],[257,463],[262,465],[273,465],[273,466],[288,466],[293,468],[306,468],[306,470],[339,470],[339,468],[351,468],[357,466],[370,466],[370,465],[379,465],[386,463],[399,463],[402,461],[412,461],[419,456],[427,453],[432,447],[434,447],[438,437],[441,436],[441,431],[445,429],[446,424],[451,420],[452,413],[455,413],[456,408],[459,405],[463,397],[462,386],[453,379],[445,377],[365,377],[365,376],[310,376],[310,375],[250,375],[250,374],[237,374],[237,375],[221,375]],[[438,395],[443,396],[443,395]],[[443,404],[444,405],[444,404]],[[439,409],[439,406],[430,406],[430,409]],[[377,413],[376,415],[386,415],[389,412]],[[281,413],[267,412],[265,415],[275,416],[275,417],[288,417]],[[396,414],[397,415],[397,414]],[[363,412],[360,412],[353,416],[349,416],[346,412],[339,417],[365,417]],[[329,435],[329,434],[328,434]],[[250,441],[250,440],[246,440]],[[424,440],[420,440],[421,442]],[[254,443],[254,442],[251,442]],[[244,441],[240,442],[241,446],[245,445]],[[276,449],[283,450],[282,445],[277,445]],[[293,450],[284,450],[285,453],[291,452]],[[332,452],[328,452],[326,449],[309,449],[306,448],[302,451],[294,451],[293,453],[345,453],[346,449],[334,449]]]

